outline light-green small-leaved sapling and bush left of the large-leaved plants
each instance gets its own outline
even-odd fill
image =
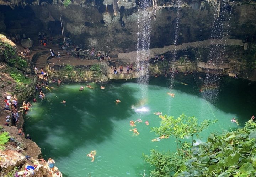
[[[176,138],[177,151],[176,153],[161,153],[153,149],[149,156],[143,154],[143,158],[147,163],[155,167],[154,170],[150,171],[152,176],[170,177],[174,176],[175,172],[178,173],[186,170],[185,162],[193,157],[192,145],[188,142],[181,142],[178,139],[191,137],[193,144],[193,136],[216,121],[204,120],[198,123],[197,118],[194,116],[187,117],[184,114],[176,119],[173,116],[167,115],[160,115],[159,117],[162,119],[160,127],[153,127],[152,131],[160,137],[165,135],[165,137],[172,136]]]

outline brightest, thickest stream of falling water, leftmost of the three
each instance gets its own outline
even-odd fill
[[[152,11],[149,10],[150,5],[150,0],[139,0],[137,32],[137,68],[142,68],[139,72],[143,72],[143,76],[137,78],[137,83],[140,84],[141,100],[145,99],[148,94],[148,57],[150,52],[150,22],[152,17]]]

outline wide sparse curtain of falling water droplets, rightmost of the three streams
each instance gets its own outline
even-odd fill
[[[228,39],[229,24],[232,14],[232,7],[228,0],[216,1],[214,6],[214,19],[211,33],[211,44],[209,47],[209,55],[207,62],[212,65],[220,66],[226,62],[225,59],[225,45],[220,44],[221,39]],[[216,44],[217,42],[217,44]],[[222,81],[222,71],[218,69],[207,69],[206,78],[204,79],[203,98],[215,104],[218,100],[219,85]]]

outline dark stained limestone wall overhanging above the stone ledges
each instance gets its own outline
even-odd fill
[[[0,12],[0,30],[6,33],[36,32],[52,27],[61,34],[60,11],[65,34],[84,48],[94,46],[97,50],[129,52],[136,49],[138,28],[138,2],[135,0],[74,0],[68,7],[62,2],[0,0],[1,5],[11,8]],[[16,6],[20,6],[19,8]],[[23,6],[26,11],[22,12]],[[254,1],[158,1],[156,19],[151,13],[151,48],[206,40],[210,38],[233,38],[250,42],[255,40],[256,3]],[[31,13],[28,17],[14,20],[16,13]],[[11,13],[13,12],[13,13]],[[23,19],[25,18],[25,19]],[[15,25],[11,25],[14,23]],[[16,29],[15,29],[15,27]],[[28,29],[28,26],[31,29]],[[25,29],[26,28],[26,29]]]

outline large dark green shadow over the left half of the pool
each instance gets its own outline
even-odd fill
[[[99,86],[97,85],[97,87]],[[111,86],[108,85],[108,87]],[[138,101],[138,99],[133,96],[133,93],[136,91],[136,89],[130,87],[122,87],[122,85],[121,87],[115,87],[114,85],[111,92],[100,89],[86,89],[82,91],[80,96],[78,94],[78,96],[69,98],[69,100],[66,99],[67,104],[65,110],[62,108],[62,104],[55,104],[56,107],[54,108],[54,111],[47,112],[47,114],[51,114],[53,118],[52,120],[38,120],[37,123],[31,124],[29,121],[33,117],[30,117],[29,114],[26,115],[25,131],[35,137],[34,139],[36,139],[36,142],[42,148],[45,157],[48,158],[49,154],[51,154],[50,151],[53,149],[56,156],[60,154],[61,156],[68,156],[70,155],[70,152],[72,152],[74,149],[78,149],[79,146],[86,146],[89,143],[98,144],[106,139],[112,138],[114,127],[113,123],[111,123],[111,119],[123,120],[131,116],[132,109],[127,109],[127,107],[130,107],[131,103],[135,104]],[[47,90],[44,90],[44,92],[46,92],[47,95]],[[72,92],[72,90],[70,92]],[[101,94],[94,94],[94,92],[101,92]],[[54,93],[58,95],[58,92]],[[110,98],[113,98],[113,103],[107,103],[105,101],[109,100]],[[122,100],[122,102],[118,105],[114,103],[117,98]],[[130,100],[129,103],[126,102],[126,99]],[[101,104],[98,104],[98,101],[100,101]],[[102,104],[105,105],[104,108],[99,107],[102,106]],[[92,114],[90,112],[90,114],[88,114],[88,110],[94,110],[95,113]],[[59,114],[60,111],[67,111],[67,116],[61,117],[61,119],[58,119],[57,116],[54,116]],[[46,118],[43,115],[41,116],[41,119]],[[50,125],[49,121],[52,121]],[[39,126],[36,124],[39,124]],[[39,128],[35,129],[35,127],[32,128],[30,125]],[[58,130],[58,132],[55,132],[55,130]],[[54,142],[48,142],[48,136],[54,135],[58,135],[59,139],[64,139],[60,143],[68,142],[72,145],[57,144],[57,148],[54,148]]]

